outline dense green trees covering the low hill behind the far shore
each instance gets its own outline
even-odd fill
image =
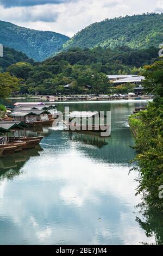
[[[8,72],[26,81],[21,93],[82,93],[89,88],[89,92],[98,94],[110,90],[106,75],[137,75],[142,71],[141,66],[153,63],[157,56],[158,50],[154,47],[148,50],[132,50],[127,46],[115,50],[74,48],[42,63],[13,64]],[[127,91],[127,87],[117,88],[117,92]]]

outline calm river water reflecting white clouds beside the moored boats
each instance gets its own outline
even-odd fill
[[[45,127],[40,148],[0,159],[0,244],[155,242],[136,221],[141,198],[135,196],[137,173],[129,175],[135,151],[128,117],[146,102],[57,105],[60,111],[111,111],[111,137]]]

